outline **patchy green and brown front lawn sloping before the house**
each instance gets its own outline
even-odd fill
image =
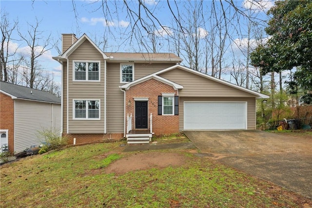
[[[174,143],[180,136],[157,142]],[[121,144],[125,142],[71,146],[2,165],[0,207],[308,208],[311,203],[190,150],[158,151],[182,155],[181,166],[106,173],[110,164],[138,154],[122,152]]]

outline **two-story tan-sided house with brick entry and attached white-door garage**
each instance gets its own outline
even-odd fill
[[[62,130],[77,143],[194,129],[255,129],[267,95],[179,65],[171,53],[104,53],[62,34]],[[134,135],[135,134],[135,135]]]

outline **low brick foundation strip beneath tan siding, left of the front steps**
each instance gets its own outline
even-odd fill
[[[63,136],[68,138],[68,144],[74,144],[74,138],[76,138],[76,144],[87,144],[102,141],[118,141],[123,138],[123,133],[108,133],[108,134],[66,134]]]

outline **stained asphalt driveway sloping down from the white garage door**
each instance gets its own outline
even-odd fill
[[[312,140],[263,131],[184,131],[202,156],[312,198]]]

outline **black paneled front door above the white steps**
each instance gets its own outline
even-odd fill
[[[136,101],[136,128],[147,128],[147,101]]]

